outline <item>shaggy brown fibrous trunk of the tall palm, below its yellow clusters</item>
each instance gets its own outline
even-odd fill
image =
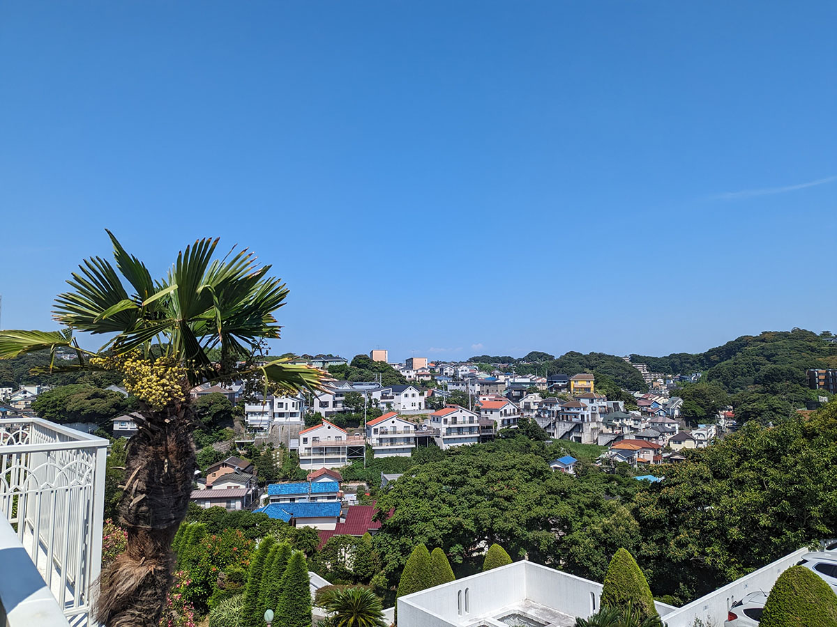
[[[107,627],[157,627],[172,584],[172,538],[186,517],[196,467],[189,400],[137,414],[119,504],[127,548],[102,572],[95,607]]]

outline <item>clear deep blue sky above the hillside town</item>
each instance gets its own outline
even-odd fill
[[[837,330],[833,2],[0,5],[4,328],[104,229],[290,287],[276,352]]]

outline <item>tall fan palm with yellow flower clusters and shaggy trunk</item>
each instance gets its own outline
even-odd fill
[[[157,624],[172,581],[170,547],[195,472],[189,390],[242,378],[277,391],[316,390],[326,373],[289,359],[256,362],[264,339],[279,338],[274,312],[288,290],[267,276],[270,266],[257,267],[252,252],[213,259],[218,240],[198,240],[155,281],[108,235],[116,269],[92,257],[73,273],[72,290],[55,299],[54,319],[64,329],[0,331],[0,359],[49,350],[44,370],[113,370],[140,401],[118,509],[127,549],[103,571],[95,611],[109,627],[135,627]],[[111,337],[91,352],[74,339],[76,330]],[[57,349],[73,350],[78,363],[59,366]]]

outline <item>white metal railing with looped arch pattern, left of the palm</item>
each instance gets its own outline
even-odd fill
[[[107,446],[40,418],[0,422],[0,512],[73,624],[89,623],[101,568]]]

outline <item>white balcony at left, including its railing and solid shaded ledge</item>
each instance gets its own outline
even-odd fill
[[[39,418],[0,424],[0,616],[90,625],[101,567],[108,442]]]

